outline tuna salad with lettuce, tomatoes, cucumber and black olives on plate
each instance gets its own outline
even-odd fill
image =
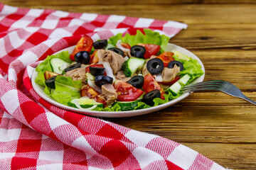
[[[152,30],[93,41],[83,35],[71,54],[50,55],[36,67],[36,84],[66,106],[92,111],[133,111],[181,96],[203,75],[197,60],[166,51],[169,37]]]

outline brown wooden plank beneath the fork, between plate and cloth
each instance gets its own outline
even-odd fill
[[[255,143],[255,106],[225,94],[194,93],[163,111],[114,123],[176,142]]]

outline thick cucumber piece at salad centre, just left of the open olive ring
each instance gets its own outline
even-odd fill
[[[122,68],[126,77],[132,77],[138,70],[142,69],[146,60],[137,57],[131,57],[124,62]]]

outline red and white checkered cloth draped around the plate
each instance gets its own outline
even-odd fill
[[[172,37],[186,24],[0,4],[0,169],[224,169],[164,137],[52,106],[33,90],[38,61],[81,35],[142,28]]]

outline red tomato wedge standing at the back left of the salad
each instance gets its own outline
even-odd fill
[[[75,54],[80,51],[90,52],[92,50],[93,40],[88,35],[83,35],[82,38],[78,41],[77,45],[75,45],[75,49],[70,55],[70,59],[75,61]]]

